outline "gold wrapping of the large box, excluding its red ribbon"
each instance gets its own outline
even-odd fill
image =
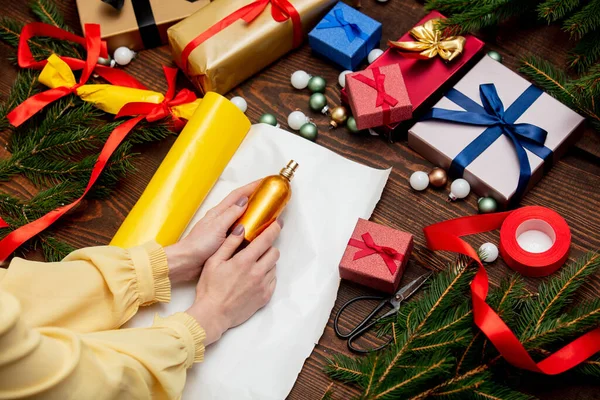
[[[302,20],[304,36],[325,16],[337,0],[290,0]],[[215,1],[168,30],[175,62],[181,65],[181,52],[198,35],[250,0]],[[190,53],[184,71],[201,93],[225,94],[255,73],[293,49],[291,19],[277,22],[271,5],[252,22],[238,20],[207,39]]]

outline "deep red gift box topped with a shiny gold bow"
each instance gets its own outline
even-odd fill
[[[423,46],[423,42],[427,42],[427,31],[420,27],[423,27],[428,21],[432,21],[437,18],[443,18],[443,15],[437,11],[432,11],[425,16],[421,21],[417,23],[415,28],[404,34],[399,42],[411,43],[415,42],[412,46],[406,45],[404,47],[412,47],[414,51],[410,51],[405,48],[388,48],[383,54],[375,60],[371,65],[367,67],[377,68],[389,64],[398,64],[404,77],[404,83],[406,90],[408,91],[408,97],[413,105],[413,112],[418,114],[423,110],[430,107],[433,103],[427,101],[433,98],[435,93],[439,93],[443,86],[451,85],[455,78],[458,78],[458,73],[465,70],[465,66],[471,61],[475,61],[475,56],[483,48],[484,43],[472,35],[464,36],[464,47],[462,51],[451,52],[447,58],[444,59],[441,54],[444,52],[444,43],[440,43],[439,50],[429,50]],[[419,40],[413,34],[417,34],[423,37]],[[435,35],[435,32],[432,33]],[[425,35],[425,36],[423,36]],[[438,37],[438,39],[440,39]],[[443,40],[443,39],[442,39]],[[454,39],[452,39],[454,40]],[[421,42],[419,44],[418,42]],[[454,42],[452,42],[454,44]],[[421,53],[424,53],[423,55]],[[435,55],[434,55],[435,54]],[[433,55],[429,57],[429,55]],[[346,89],[342,89],[342,102],[348,104],[348,94]],[[389,124],[385,127],[378,129],[379,131],[390,134],[398,124]]]

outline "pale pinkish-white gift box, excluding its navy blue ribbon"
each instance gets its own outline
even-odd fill
[[[504,110],[510,110],[515,100],[523,98],[526,91],[536,90],[530,88],[532,85],[527,80],[488,56],[475,65],[454,86],[454,89],[464,94],[468,98],[467,102],[470,100],[475,102],[477,108],[477,105],[482,105],[480,85],[490,83],[495,85]],[[435,108],[465,111],[465,108],[447,97],[442,98]],[[551,160],[547,165],[543,165],[543,160],[539,156],[526,150],[531,167],[527,190],[542,178],[544,169],[556,162],[569,145],[578,138],[578,134],[582,131],[578,128],[583,121],[584,118],[579,114],[543,92],[514,121],[517,124],[532,124],[546,130],[548,134],[544,146],[553,152]],[[486,126],[422,120],[410,128],[408,145],[432,163],[449,169],[452,160],[486,129]],[[527,148],[526,143],[524,147]],[[516,193],[519,172],[519,159],[515,147],[506,134],[500,134],[466,167],[463,178],[471,184],[471,190],[478,195],[491,196],[499,204],[506,206]]]

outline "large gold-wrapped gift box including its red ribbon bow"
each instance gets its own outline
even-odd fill
[[[173,57],[200,92],[226,93],[299,46],[334,2],[215,1],[169,29]]]

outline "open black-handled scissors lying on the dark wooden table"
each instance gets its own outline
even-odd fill
[[[355,297],[355,298],[349,300],[346,304],[344,304],[339,309],[339,311],[335,315],[335,319],[333,321],[333,329],[335,330],[335,334],[340,339],[348,339],[348,348],[350,350],[354,351],[355,353],[370,353],[372,351],[383,349],[384,347],[386,347],[387,345],[389,345],[392,342],[392,338],[390,338],[390,340],[388,340],[386,343],[382,344],[381,346],[375,347],[372,349],[360,349],[354,345],[354,341],[356,339],[358,339],[360,336],[362,336],[366,331],[368,331],[371,327],[373,327],[376,323],[378,323],[382,319],[387,318],[392,315],[395,315],[400,310],[400,303],[402,303],[402,301],[408,299],[417,290],[419,290],[419,288],[421,286],[423,286],[425,281],[427,281],[427,279],[429,279],[429,277],[432,274],[433,274],[432,272],[428,272],[426,274],[419,276],[415,280],[409,282],[406,286],[403,286],[402,288],[400,288],[400,290],[398,290],[396,292],[396,294],[394,294],[393,296],[391,296],[389,298],[382,297],[382,296],[358,296],[358,297]],[[354,329],[352,329],[348,333],[342,333],[340,331],[340,327],[339,327],[340,315],[342,315],[344,310],[350,304],[355,303],[357,301],[362,301],[362,300],[381,300],[381,302],[379,303],[379,305],[377,307],[375,307],[373,309],[373,311],[371,311],[371,313],[369,315],[367,315],[365,317],[365,319],[363,319],[356,327],[354,327]],[[375,315],[377,315],[377,313],[386,305],[391,306],[392,309],[390,311],[388,311],[387,313],[383,314],[381,317],[374,318]]]

